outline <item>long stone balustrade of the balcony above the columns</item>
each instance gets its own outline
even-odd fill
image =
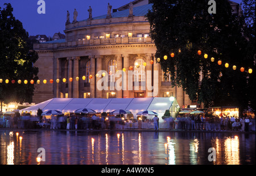
[[[106,44],[135,44],[135,43],[154,43],[150,37],[117,37],[110,39],[90,39],[79,41],[65,41],[63,43],[34,43],[34,49],[59,49],[70,47],[82,47],[93,45],[106,45]]]

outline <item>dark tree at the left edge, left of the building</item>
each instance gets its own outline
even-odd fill
[[[30,80],[38,79],[38,68],[33,66],[38,54],[27,44],[28,33],[13,16],[13,7],[10,3],[5,6],[3,10],[0,7],[0,99],[5,103],[31,103],[34,85]],[[19,79],[22,83],[18,83]],[[27,84],[23,83],[25,79]]]

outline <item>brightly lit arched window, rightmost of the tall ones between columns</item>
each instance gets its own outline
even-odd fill
[[[146,81],[144,60],[141,58],[134,62],[134,81],[143,82]]]

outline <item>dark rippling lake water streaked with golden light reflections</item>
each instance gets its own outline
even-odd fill
[[[46,150],[46,161],[38,148]],[[208,161],[209,148],[216,161]],[[0,164],[255,164],[255,134],[0,131]]]

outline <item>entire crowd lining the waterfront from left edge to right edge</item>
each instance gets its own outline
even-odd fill
[[[140,121],[140,120],[139,120]],[[154,124],[159,129],[159,118],[143,119],[143,123]],[[33,117],[30,114],[22,116],[0,115],[0,128],[47,128],[47,129],[125,129],[125,124],[137,123],[136,119],[125,119],[114,115],[100,116],[96,114],[70,114],[69,116],[51,116],[49,119]],[[164,119],[164,128],[170,130],[199,131],[255,131],[255,118],[242,116],[204,116],[178,115],[177,118]]]

